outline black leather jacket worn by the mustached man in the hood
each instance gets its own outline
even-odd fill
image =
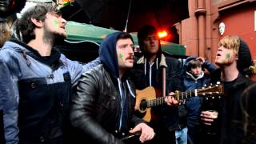
[[[122,79],[129,103],[127,128],[132,128],[142,122],[134,115],[134,86],[129,78]],[[129,82],[130,90],[125,80]],[[73,126],[81,130],[83,137],[93,143],[122,143],[114,137],[121,108],[121,98],[118,93],[118,81],[110,76],[103,65],[82,74],[78,82],[76,94],[72,99],[70,120]]]

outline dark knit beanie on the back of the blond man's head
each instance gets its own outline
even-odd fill
[[[238,50],[238,70],[241,72],[245,72],[253,64],[251,55],[250,55],[250,49],[249,46],[247,46],[246,42],[242,39],[240,39],[240,46]]]

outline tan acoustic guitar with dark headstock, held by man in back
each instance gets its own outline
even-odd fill
[[[222,85],[214,85],[214,86],[204,86],[201,89],[188,90],[186,92],[175,91],[174,98],[180,102],[180,104],[184,104],[187,98],[192,97],[220,97],[223,94],[223,86]],[[153,86],[148,86],[143,90],[136,90],[136,102],[135,102],[135,110],[138,112],[139,117],[141,117],[144,121],[150,122],[151,120],[151,107],[160,106],[165,104],[166,97],[156,98],[156,92]]]

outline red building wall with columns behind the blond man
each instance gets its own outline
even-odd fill
[[[218,40],[235,34],[245,39],[256,60],[256,0],[188,0],[188,7],[190,18],[174,25],[186,55],[214,62]],[[218,28],[221,22],[225,24],[222,35]]]

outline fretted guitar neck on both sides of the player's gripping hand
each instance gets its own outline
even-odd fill
[[[180,100],[184,100],[186,98],[192,98],[198,96],[198,92],[197,90],[188,90],[186,92],[176,92],[175,94],[175,99],[180,101]],[[165,101],[166,97],[160,97],[160,98],[154,98],[154,99],[150,99],[147,100],[147,107],[153,107],[153,106],[160,106],[163,105],[166,101]]]

